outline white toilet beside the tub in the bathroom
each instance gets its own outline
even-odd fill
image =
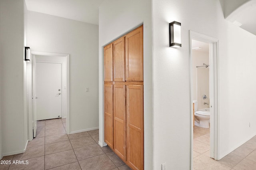
[[[199,109],[198,102],[193,101],[195,107],[195,125],[202,128],[209,128],[210,109]]]

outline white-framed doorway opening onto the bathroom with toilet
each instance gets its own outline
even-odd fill
[[[190,31],[191,164],[197,156],[218,160],[218,40]]]

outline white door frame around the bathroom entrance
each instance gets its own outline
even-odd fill
[[[210,157],[219,160],[219,108],[218,108],[218,39],[190,30],[190,103],[193,113],[192,40],[209,43],[210,47]],[[191,167],[193,164],[193,114],[191,114]]]

